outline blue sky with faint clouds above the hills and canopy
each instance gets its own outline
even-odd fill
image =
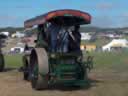
[[[56,9],[85,11],[91,26],[128,27],[127,0],[0,0],[0,27],[23,27],[25,20]]]

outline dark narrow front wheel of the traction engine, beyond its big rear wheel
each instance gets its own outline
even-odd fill
[[[24,80],[29,80],[30,79],[30,76],[29,76],[29,63],[28,63],[28,60],[27,60],[27,57],[26,56],[23,56],[23,78]]]

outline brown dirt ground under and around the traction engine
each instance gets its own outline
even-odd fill
[[[92,72],[92,86],[85,89],[34,91],[17,70],[0,73],[0,96],[128,96],[128,74]]]

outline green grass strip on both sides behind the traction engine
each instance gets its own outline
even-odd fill
[[[84,53],[84,55],[91,55],[94,57],[94,64],[96,67],[124,65],[128,64],[128,52],[92,52]],[[5,55],[5,64],[7,67],[19,67],[22,65],[22,55]]]

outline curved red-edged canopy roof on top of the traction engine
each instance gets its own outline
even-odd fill
[[[89,24],[91,22],[91,16],[88,13],[85,13],[85,12],[82,12],[79,10],[65,9],[65,10],[51,11],[44,15],[37,16],[35,18],[27,20],[24,22],[24,26],[32,27],[34,25],[44,24],[46,21],[48,21],[54,17],[67,16],[67,15],[83,18],[83,20],[86,21],[85,24]]]

